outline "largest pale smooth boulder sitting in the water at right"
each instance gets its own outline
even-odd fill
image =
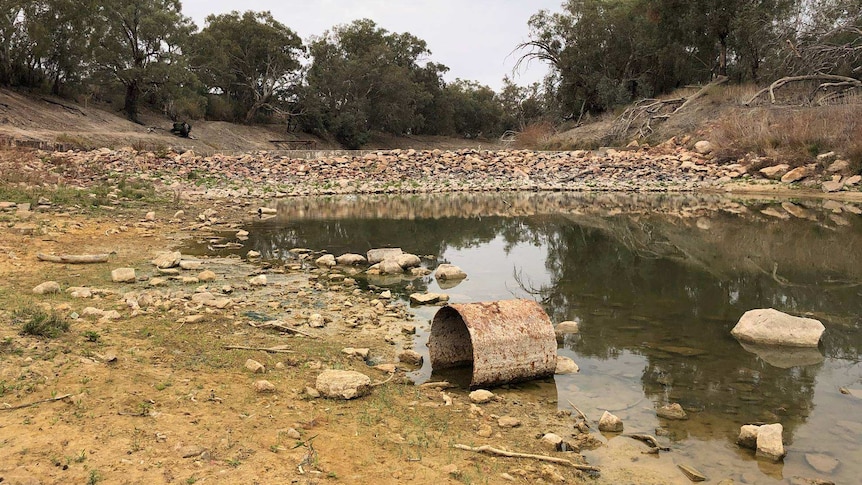
[[[749,310],[730,332],[737,340],[761,345],[817,347],[825,328],[813,318],[794,317],[778,310]]]

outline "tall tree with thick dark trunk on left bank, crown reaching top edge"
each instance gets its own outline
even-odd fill
[[[123,86],[129,120],[140,123],[142,94],[192,81],[182,54],[195,27],[179,0],[99,0],[94,23],[95,69]]]

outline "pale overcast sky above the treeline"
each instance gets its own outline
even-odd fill
[[[449,67],[447,81],[479,81],[495,90],[503,76],[516,84],[541,80],[547,69],[533,62],[512,75],[527,20],[539,10],[560,10],[562,0],[182,0],[198,28],[210,14],[269,10],[303,40],[334,25],[370,18],[390,32],[410,32],[428,43],[431,59]]]

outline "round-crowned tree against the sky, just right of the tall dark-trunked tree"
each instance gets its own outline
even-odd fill
[[[210,90],[236,99],[250,123],[261,109],[281,111],[304,52],[296,33],[269,12],[231,12],[207,17],[192,64]]]

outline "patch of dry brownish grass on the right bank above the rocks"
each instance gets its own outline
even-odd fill
[[[754,153],[792,165],[835,151],[862,168],[862,103],[817,107],[763,107],[726,114],[712,141],[726,156]]]

